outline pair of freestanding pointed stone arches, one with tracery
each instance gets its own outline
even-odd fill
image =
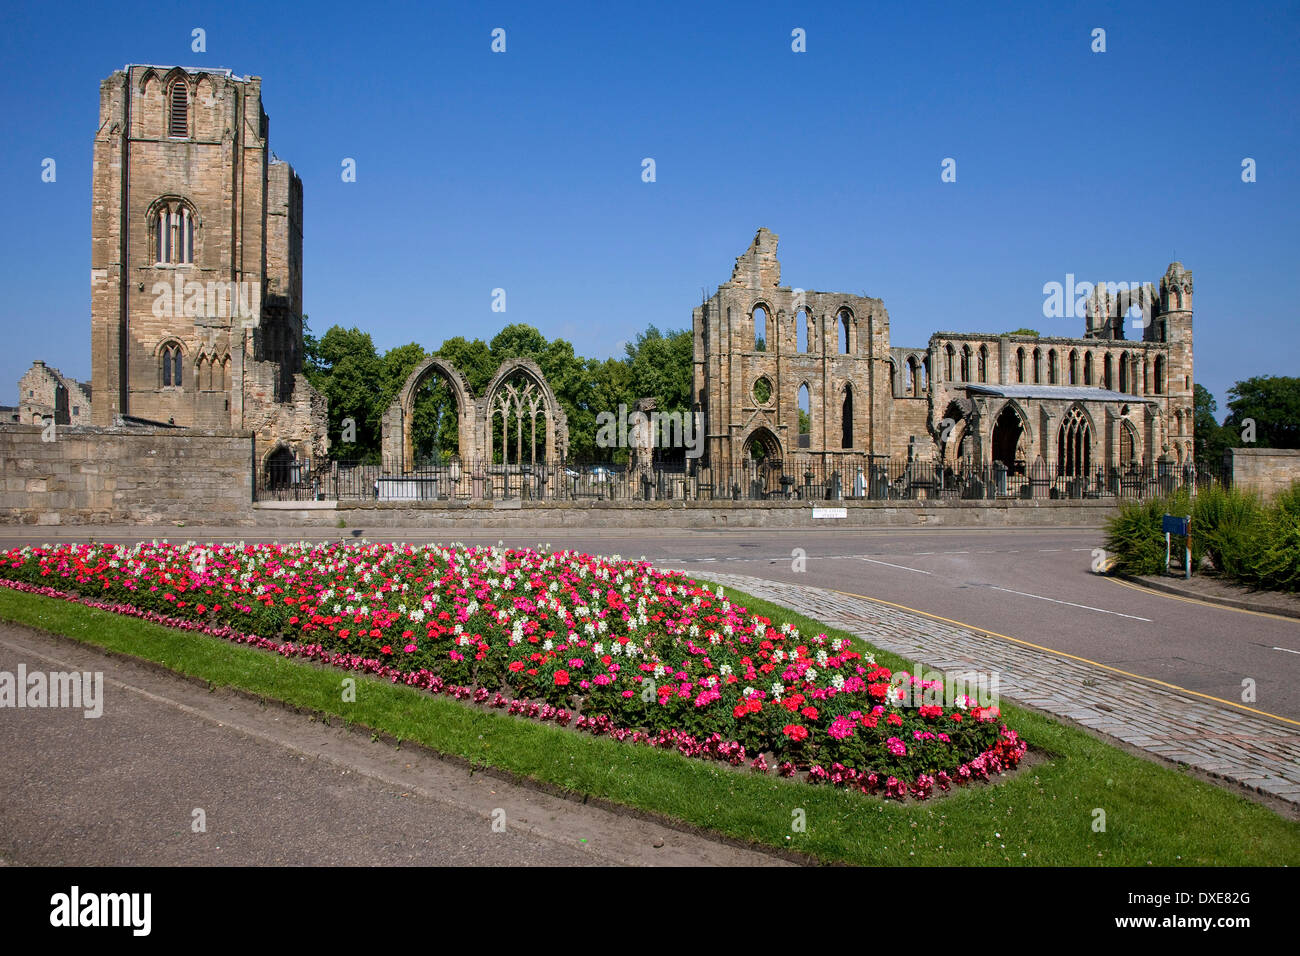
[[[384,468],[407,475],[415,468],[415,405],[420,386],[430,376],[447,382],[458,411],[458,458],[463,467],[493,467],[497,449],[494,421],[514,425],[515,444],[500,447],[499,464],[559,464],[568,454],[568,416],[560,407],[541,367],[532,359],[507,359],[497,369],[481,398],[474,397],[460,371],[438,356],[421,362],[384,412]],[[526,423],[526,424],[525,424]],[[524,437],[528,437],[526,454]],[[499,442],[498,442],[499,444]],[[537,455],[537,449],[543,450]],[[514,454],[511,454],[514,453]]]

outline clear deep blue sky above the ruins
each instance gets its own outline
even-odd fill
[[[263,77],[317,332],[434,349],[519,321],[616,355],[688,326],[767,226],[785,284],[884,299],[907,346],[1082,334],[1045,282],[1156,282],[1176,252],[1221,414],[1234,381],[1297,373],[1295,3],[733,7],[8,4],[0,403],[36,358],[90,377],[91,144],[127,62]]]

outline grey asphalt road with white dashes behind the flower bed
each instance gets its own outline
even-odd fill
[[[1100,529],[274,529],[5,528],[0,545],[56,540],[303,538],[550,544],[832,588],[948,618],[1188,691],[1300,719],[1300,620],[1190,602],[1092,574]],[[801,550],[803,570],[796,550]]]

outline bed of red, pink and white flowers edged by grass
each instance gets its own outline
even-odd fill
[[[463,546],[91,544],[0,553],[0,579],[618,740],[897,799],[984,779],[1026,750],[996,706],[905,708],[914,697],[848,641],[772,627],[645,562]]]

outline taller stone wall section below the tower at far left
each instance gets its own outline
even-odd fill
[[[251,524],[248,434],[0,427],[3,524]]]

